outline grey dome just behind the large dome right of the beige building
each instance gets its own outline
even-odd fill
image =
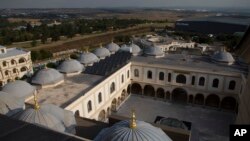
[[[63,61],[57,68],[57,70],[62,73],[82,72],[83,69],[83,65],[74,59]]]

